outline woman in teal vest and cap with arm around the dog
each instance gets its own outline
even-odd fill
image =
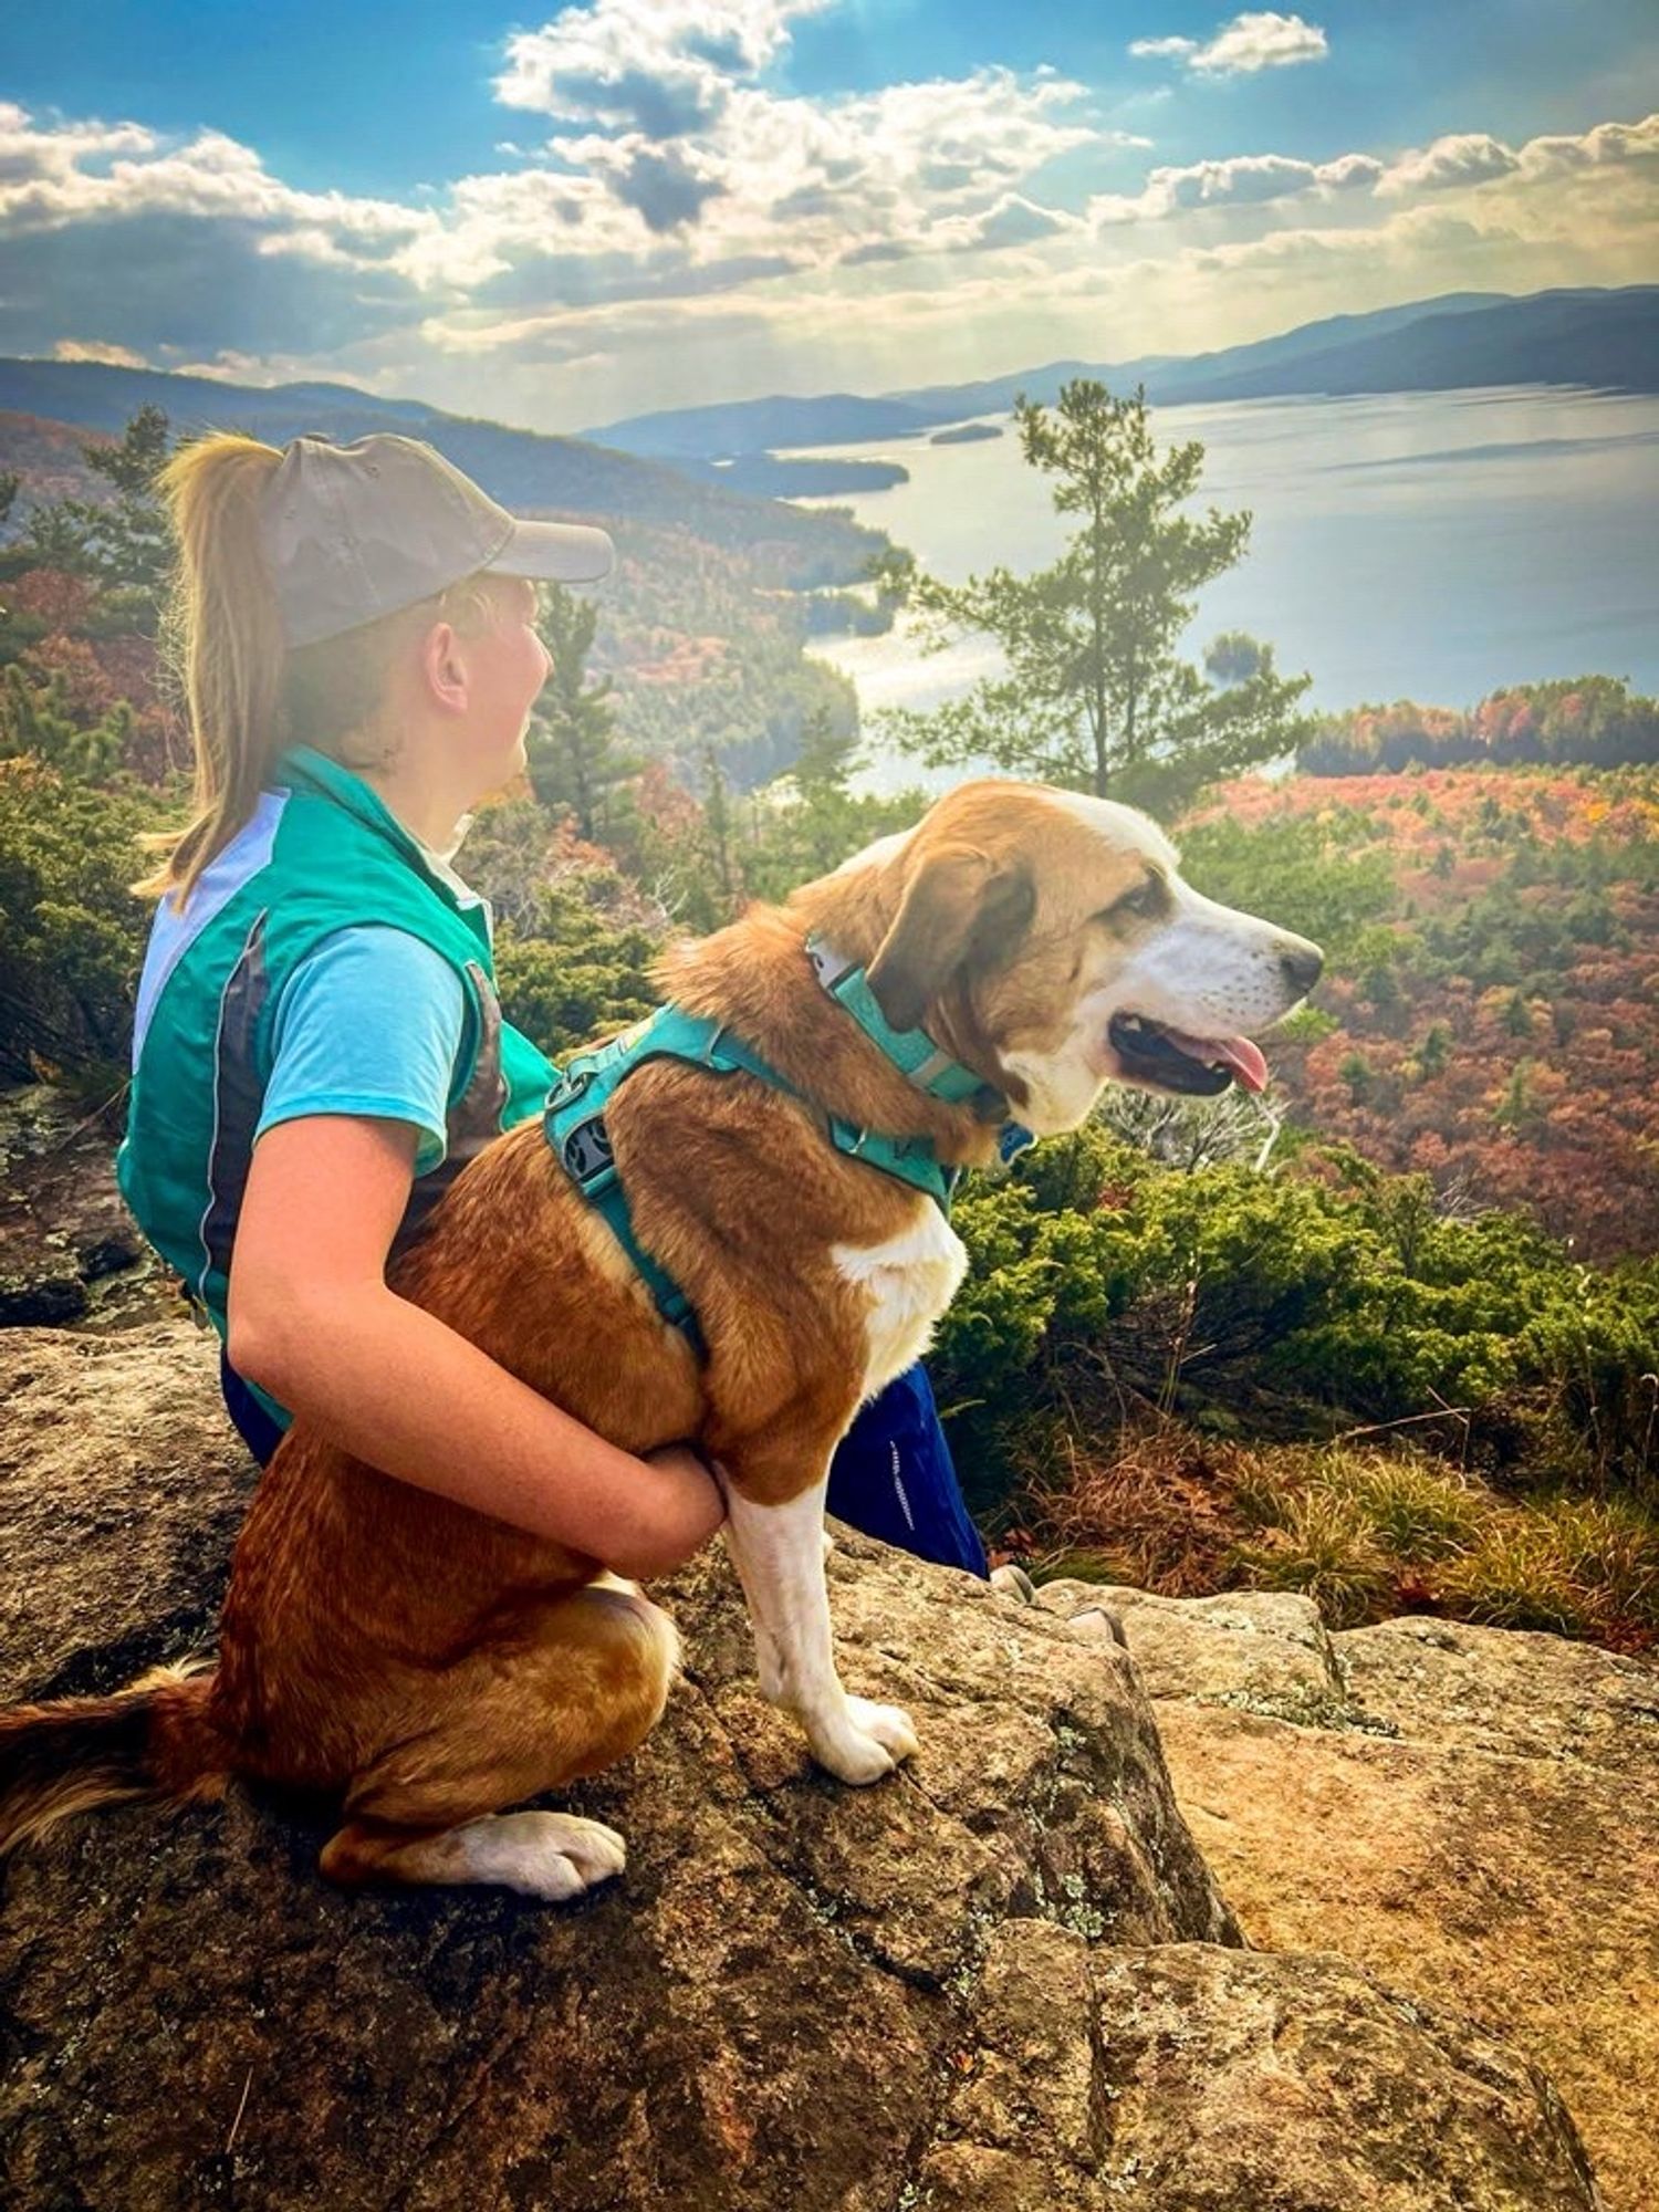
[[[122,1190],[217,1327],[261,1462],[305,1411],[405,1482],[668,1573],[723,1517],[697,1453],[617,1451],[385,1281],[553,1079],[500,1020],[489,909],[449,854],[524,768],[535,582],[602,577],[611,542],[518,522],[394,436],[206,438],[161,484],[197,810],[146,885]],[[920,1374],[843,1460],[836,1511],[984,1573]]]

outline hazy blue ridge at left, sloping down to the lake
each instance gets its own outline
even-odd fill
[[[349,385],[228,385],[208,376],[170,376],[161,369],[122,369],[100,361],[0,358],[0,414],[11,436],[0,438],[0,469],[20,469],[35,495],[24,456],[9,458],[13,438],[33,451],[62,425],[117,434],[139,407],[161,407],[175,429],[237,429],[270,445],[301,431],[352,440],[372,431],[403,431],[447,453],[484,491],[520,513],[584,515],[606,524],[648,524],[686,531],[712,546],[759,555],[768,580],[787,586],[843,584],[858,577],[880,546],[874,531],[843,515],[781,507],[776,500],[692,482],[659,460],[615,453],[582,438],[544,438],[451,416],[420,400],[383,400]],[[29,418],[24,434],[18,418]],[[53,440],[62,447],[62,436]]]

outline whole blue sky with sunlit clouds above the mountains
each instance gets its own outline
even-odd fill
[[[1659,279],[1650,0],[58,0],[0,349],[575,429]]]

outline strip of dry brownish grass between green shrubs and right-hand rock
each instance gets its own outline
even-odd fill
[[[1099,1455],[1057,1436],[1026,1502],[1040,1579],[1301,1590],[1334,1628],[1438,1613],[1659,1646],[1659,1515],[1517,1500],[1425,1451],[1203,1444],[1159,1422]]]

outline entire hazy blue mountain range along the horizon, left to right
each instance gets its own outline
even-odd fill
[[[0,411],[119,431],[139,407],[157,405],[175,429],[241,429],[272,445],[307,429],[338,440],[376,429],[405,431],[427,438],[520,511],[646,522],[734,551],[763,549],[779,582],[801,586],[858,575],[876,538],[841,515],[779,500],[852,493],[869,489],[872,467],[885,469],[885,482],[902,480],[905,469],[894,462],[772,456],[925,438],[942,425],[1006,414],[1020,394],[1051,405],[1060,387],[1079,376],[1099,378],[1115,392],[1144,385],[1150,400],[1170,407],[1471,385],[1659,392],[1659,285],[1535,292],[1526,299],[1451,292],[1303,323],[1212,354],[1051,361],[978,383],[876,396],[774,394],[628,416],[580,438],[456,416],[422,400],[378,398],[338,383],[232,385],[91,361],[0,358]],[[0,436],[0,460],[7,460],[11,442]],[[9,465],[18,467],[15,460]]]

